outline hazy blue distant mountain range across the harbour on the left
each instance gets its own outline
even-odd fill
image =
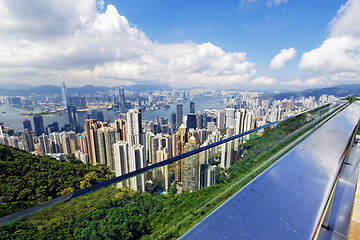
[[[18,86],[18,87],[16,87]],[[125,90],[129,91],[146,91],[146,90],[172,90],[172,88],[166,84],[136,84],[132,86],[118,86],[118,87],[103,87],[103,86],[93,86],[86,85],[78,88],[67,88],[68,93],[96,93],[96,92],[108,92],[110,90],[119,89],[119,87],[124,87]],[[11,84],[2,84],[0,86],[0,95],[2,96],[29,96],[30,94],[60,94],[61,89],[58,86],[53,85],[43,85],[39,87],[31,87],[30,85],[11,85]]]

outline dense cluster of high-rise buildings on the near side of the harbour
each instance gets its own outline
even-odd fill
[[[227,107],[221,110],[196,111],[195,102],[191,101],[187,114],[183,112],[183,104],[178,103],[170,121],[157,118],[156,122],[143,122],[140,108],[127,110],[124,89],[120,88],[114,98],[119,118],[114,122],[105,121],[101,111],[93,110],[83,127],[78,122],[77,108],[69,99],[64,84],[62,99],[69,116],[69,124],[64,128],[59,129],[57,122],[45,128],[42,116],[36,114],[33,116],[34,129],[31,121],[25,120],[21,135],[0,124],[0,143],[59,160],[65,160],[67,154],[74,154],[83,163],[109,166],[116,176],[336,100],[324,95],[318,100],[310,97],[270,101],[260,100],[257,93],[243,93],[228,98]],[[248,139],[247,135],[241,141],[230,141],[193,154],[120,185],[129,185],[140,191],[154,187],[167,191],[173,182],[182,191],[211,186],[216,182],[217,165],[230,167],[241,157],[241,142]]]

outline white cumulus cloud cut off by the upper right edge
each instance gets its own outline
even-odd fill
[[[360,77],[360,1],[349,0],[330,22],[330,36],[302,55],[299,67],[324,72],[335,81],[345,72]]]

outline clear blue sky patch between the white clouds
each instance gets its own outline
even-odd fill
[[[131,24],[153,41],[197,44],[211,42],[227,52],[246,52],[258,72],[283,79],[310,78],[298,69],[301,54],[317,46],[330,32],[329,22],[346,1],[105,1],[114,4]],[[269,69],[273,57],[295,47],[297,56],[286,68]]]

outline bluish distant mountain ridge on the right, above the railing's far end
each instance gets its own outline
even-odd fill
[[[306,89],[303,91],[289,91],[281,93],[266,93],[262,95],[262,98],[272,98],[275,100],[283,100],[285,98],[289,99],[291,97],[298,98],[301,96],[304,97],[316,97],[319,98],[321,95],[334,95],[335,97],[345,97],[351,94],[360,95],[360,84],[342,84],[333,87],[326,88],[314,88]]]

